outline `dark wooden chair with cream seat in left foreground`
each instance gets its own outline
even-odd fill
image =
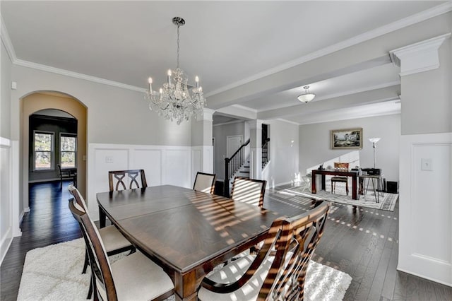
[[[93,300],[164,300],[174,294],[174,284],[167,273],[140,252],[110,264],[93,220],[73,202],[69,202],[69,208],[81,225],[88,250]]]

